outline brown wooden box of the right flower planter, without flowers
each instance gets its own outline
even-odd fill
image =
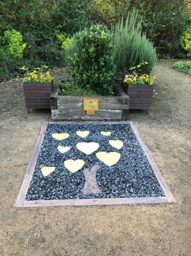
[[[124,91],[130,98],[129,109],[147,109],[151,108],[153,97],[153,85],[123,85]]]

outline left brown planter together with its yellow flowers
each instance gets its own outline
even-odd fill
[[[24,69],[25,67],[22,67]],[[30,108],[51,108],[50,95],[53,90],[53,77],[47,71],[47,66],[35,68],[23,79],[25,103]],[[26,69],[26,68],[25,68]]]

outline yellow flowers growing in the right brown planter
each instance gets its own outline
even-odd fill
[[[138,76],[136,73],[133,73],[132,75],[128,75],[128,77],[124,80],[124,83],[129,85],[152,85],[155,80],[155,76],[151,77],[148,74]]]

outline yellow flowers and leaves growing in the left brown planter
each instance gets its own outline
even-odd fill
[[[35,68],[33,72],[27,73],[27,76],[23,79],[24,83],[50,83],[54,77],[51,76],[47,70],[47,66],[41,66]]]

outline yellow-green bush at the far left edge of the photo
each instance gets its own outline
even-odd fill
[[[22,35],[16,31],[5,31],[4,37],[0,37],[0,57],[22,58],[22,53],[27,44],[22,44]]]

